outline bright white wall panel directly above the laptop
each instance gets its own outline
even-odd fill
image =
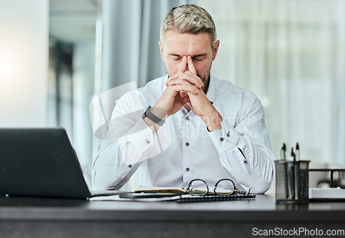
[[[48,0],[0,0],[0,32],[0,127],[43,127]]]

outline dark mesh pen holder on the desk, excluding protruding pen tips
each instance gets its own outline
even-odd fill
[[[277,204],[309,202],[310,160],[275,161],[275,201]]]

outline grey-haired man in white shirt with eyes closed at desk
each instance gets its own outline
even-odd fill
[[[168,75],[117,101],[92,167],[95,186],[119,189],[137,171],[145,186],[202,179],[212,187],[227,178],[240,190],[266,192],[274,156],[264,108],[250,91],[210,76],[219,48],[210,14],[195,5],[172,8],[159,48]]]

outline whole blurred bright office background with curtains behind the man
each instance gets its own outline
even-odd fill
[[[159,27],[184,3],[213,16],[212,74],[259,96],[276,158],[299,142],[311,167],[344,167],[342,0],[0,0],[0,127],[65,127],[90,185],[90,100],[166,74]]]

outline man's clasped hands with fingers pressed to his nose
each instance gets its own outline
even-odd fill
[[[182,58],[177,73],[168,78],[166,86],[161,98],[152,108],[152,113],[161,114],[161,111],[164,111],[166,118],[187,104],[205,122],[209,131],[221,129],[221,116],[206,97],[203,91],[204,82],[197,76],[191,56]]]

